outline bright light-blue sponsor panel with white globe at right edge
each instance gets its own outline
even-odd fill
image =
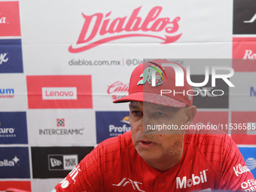
[[[256,178],[256,148],[239,148],[239,150],[245,159],[248,169]]]

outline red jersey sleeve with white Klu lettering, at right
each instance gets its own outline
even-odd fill
[[[245,164],[245,160],[230,136],[224,136],[223,163],[219,189],[254,191],[256,182],[254,176]],[[251,188],[252,187],[252,188]]]

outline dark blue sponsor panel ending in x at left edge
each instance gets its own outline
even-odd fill
[[[21,39],[0,39],[0,73],[23,73]]]

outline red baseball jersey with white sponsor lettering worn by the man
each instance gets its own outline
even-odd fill
[[[99,144],[55,189],[58,192],[245,190],[242,183],[243,187],[247,184],[248,188],[256,189],[251,172],[239,168],[243,166],[243,157],[230,136],[197,134],[185,136],[181,160],[162,173],[139,156],[128,132]]]

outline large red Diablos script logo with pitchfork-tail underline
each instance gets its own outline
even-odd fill
[[[142,18],[139,17],[141,9],[142,7],[136,8],[130,17],[123,16],[115,19],[111,19],[111,12],[93,15],[82,13],[84,26],[77,44],[72,44],[69,52],[79,53],[120,38],[150,37],[160,39],[161,44],[170,44],[181,37],[182,33],[172,35],[179,29],[180,17],[174,19],[160,17],[163,8],[156,6],[148,12],[145,18]]]

